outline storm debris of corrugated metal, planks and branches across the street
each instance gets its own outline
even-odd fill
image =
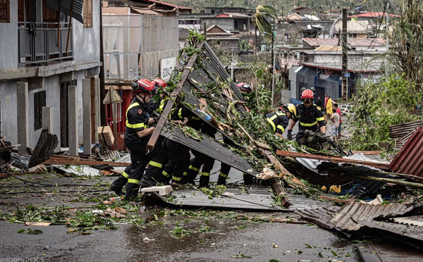
[[[421,241],[420,229],[415,225],[422,225],[419,204],[422,197],[411,196],[413,190],[423,188],[422,127],[417,130],[414,124],[410,127],[405,146],[391,163],[370,158],[369,152],[353,154],[321,135],[309,134],[307,147],[279,139],[264,128],[267,126],[264,115],[257,115],[262,108],[245,106],[243,94],[209,44],[199,37],[189,39],[190,45],[180,54],[166,87],[171,95],[162,116],[168,116],[178,103],[214,127],[219,135],[214,139],[200,131],[189,134],[184,127],[161,117],[147,146],[154,148],[159,136],[163,136],[258,177],[260,183],[249,188],[210,187],[201,192],[197,188],[172,191],[170,186],[142,189],[152,196],[149,199],[176,208],[207,206],[296,212],[307,221],[348,234],[372,227]],[[211,120],[206,120],[198,110],[209,114]],[[404,137],[399,135],[398,128],[392,130],[397,137]],[[111,130],[102,128],[101,133],[102,143],[113,144]],[[92,158],[71,157],[55,154],[56,146],[57,137],[47,130],[43,130],[30,156],[13,153],[13,146],[1,139],[0,168],[11,164],[27,172],[42,164],[64,173],[94,176],[100,175],[100,170],[118,173],[119,168],[123,171],[130,163],[127,153],[109,151],[96,152]],[[108,158],[114,161],[105,161]],[[273,192],[269,192],[269,185]],[[384,199],[376,198],[378,194]],[[378,199],[376,204],[356,201],[374,198]],[[413,229],[401,230],[401,223]]]

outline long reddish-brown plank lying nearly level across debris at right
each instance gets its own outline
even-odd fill
[[[316,159],[321,161],[329,161],[333,163],[352,163],[355,165],[364,165],[364,166],[371,166],[373,168],[380,168],[382,170],[389,170],[389,164],[386,163],[377,163],[372,161],[362,161],[362,160],[355,160],[355,159],[348,159],[348,158],[341,158],[336,156],[319,156],[313,154],[304,154],[304,153],[297,153],[291,151],[276,151],[277,156],[290,156],[295,158],[308,158],[308,159]]]

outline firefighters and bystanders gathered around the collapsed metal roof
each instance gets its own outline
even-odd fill
[[[110,189],[118,195],[125,194],[125,199],[133,199],[137,196],[140,187],[151,187],[157,183],[170,183],[174,187],[182,187],[187,183],[195,185],[197,175],[200,175],[199,186],[208,187],[210,172],[214,166],[214,159],[210,156],[162,136],[157,140],[154,149],[147,151],[147,142],[154,132],[155,124],[162,116],[166,101],[168,101],[166,82],[161,79],[152,81],[137,79],[133,82],[132,88],[135,98],[126,111],[124,135],[125,146],[130,150],[131,163],[111,184]],[[156,94],[159,99],[153,100],[152,97]],[[314,104],[314,96],[314,88],[304,88],[301,90],[301,104],[297,106],[283,104],[278,111],[266,114],[266,121],[274,135],[285,139],[283,132],[287,130],[287,138],[293,139],[293,127],[299,123],[296,140],[301,143],[301,137],[305,134],[305,130],[326,134],[326,118],[328,118],[332,121],[333,139],[339,139],[341,136],[341,111],[339,111],[338,104],[332,104],[331,97],[326,94],[324,110],[322,110],[323,101],[319,97],[317,103]],[[200,116],[204,118],[207,113],[199,109],[196,114],[189,108],[176,103],[176,106],[171,109],[171,113],[165,117],[179,125],[188,125],[214,138],[216,128]],[[231,139],[223,137],[223,142],[229,146],[235,146]],[[191,155],[194,157],[191,158]],[[221,163],[217,185],[226,185],[230,170],[231,166]],[[244,182],[251,184],[252,177],[244,175]],[[126,192],[123,193],[125,185]]]

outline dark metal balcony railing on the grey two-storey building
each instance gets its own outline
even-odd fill
[[[57,23],[19,22],[18,24],[19,66],[61,63],[73,58],[72,28],[68,40],[69,23],[60,23],[60,29],[57,28]]]

